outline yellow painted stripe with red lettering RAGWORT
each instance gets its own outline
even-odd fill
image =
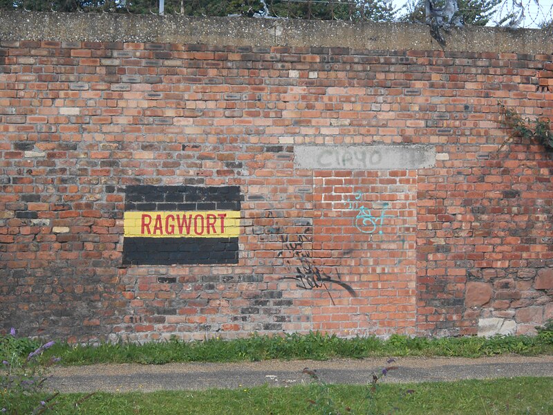
[[[240,211],[124,212],[124,236],[232,238],[240,233]]]

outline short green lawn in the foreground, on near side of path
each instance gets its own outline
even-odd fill
[[[55,414],[322,414],[308,400],[330,398],[332,414],[553,414],[553,378],[512,378],[383,384],[368,412],[367,386],[317,385],[254,387],[236,390],[160,391],[149,394],[98,393],[73,405],[84,394],[56,398]],[[412,389],[412,393],[406,393]],[[319,396],[319,398],[317,398]],[[53,401],[54,402],[54,401]],[[349,408],[348,411],[346,408]],[[339,412],[338,412],[339,411]],[[328,414],[328,412],[326,412]]]

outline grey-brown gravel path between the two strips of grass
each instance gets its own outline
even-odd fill
[[[48,386],[60,392],[156,391],[296,385],[309,382],[306,367],[329,383],[366,384],[386,366],[384,382],[426,382],[512,376],[553,377],[553,356],[487,358],[385,358],[362,360],[269,360],[239,363],[171,363],[168,365],[91,365],[57,367]]]

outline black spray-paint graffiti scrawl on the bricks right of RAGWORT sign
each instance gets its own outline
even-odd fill
[[[332,273],[329,275],[324,270],[321,270],[318,266],[313,263],[311,254],[303,248],[304,242],[310,242],[308,237],[303,235],[298,235],[298,240],[292,242],[288,240],[288,235],[281,235],[281,242],[283,243],[283,250],[279,251],[277,257],[284,257],[289,255],[289,259],[286,259],[285,262],[290,266],[290,268],[295,268],[295,275],[292,277],[283,277],[283,279],[294,279],[297,281],[296,286],[298,288],[303,288],[304,290],[313,290],[315,288],[324,288],[330,297],[330,301],[335,305],[332,295],[326,284],[337,284],[348,291],[349,295],[352,297],[357,297],[353,288],[346,284],[346,282],[341,281],[341,276],[337,269],[335,269],[336,276],[334,277]],[[291,255],[291,257],[290,257]],[[292,265],[290,259],[296,259],[299,261],[299,265]]]

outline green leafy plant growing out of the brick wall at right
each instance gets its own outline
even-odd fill
[[[521,116],[516,109],[507,108],[501,102],[498,102],[498,104],[501,113],[503,113],[501,124],[512,129],[512,136],[523,140],[536,140],[547,151],[553,151],[553,132],[551,131],[550,120],[539,118],[530,120]]]

